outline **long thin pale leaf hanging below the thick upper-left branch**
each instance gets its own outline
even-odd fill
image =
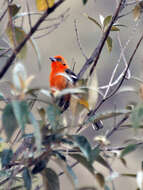
[[[40,55],[39,47],[37,46],[36,41],[32,37],[30,38],[29,42],[31,43],[31,45],[37,55],[38,66],[39,66],[39,69],[41,69],[41,55]]]

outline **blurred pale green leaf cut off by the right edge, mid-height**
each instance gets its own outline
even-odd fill
[[[132,112],[131,121],[134,128],[139,128],[143,120],[143,104],[138,105]]]

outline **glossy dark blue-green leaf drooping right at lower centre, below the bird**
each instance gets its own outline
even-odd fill
[[[84,154],[87,160],[91,161],[92,149],[86,137],[80,135],[72,135],[72,139],[74,141],[74,144],[80,148],[81,152]]]

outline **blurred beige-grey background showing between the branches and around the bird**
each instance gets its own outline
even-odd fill
[[[15,0],[15,3],[19,3],[22,5],[21,12],[25,12],[26,5],[24,1]],[[35,0],[28,0],[28,3],[30,5],[30,11],[36,11],[35,6]],[[2,7],[2,1],[0,2],[0,7]],[[45,30],[36,32],[34,34],[35,41],[39,47],[41,58],[42,58],[42,68],[39,71],[38,65],[37,65],[37,57],[35,55],[35,52],[31,48],[30,44],[28,43],[28,51],[26,59],[23,60],[24,65],[27,68],[27,71],[29,74],[34,74],[35,79],[32,83],[34,87],[48,87],[49,86],[49,72],[50,72],[50,60],[49,57],[55,56],[55,55],[62,55],[67,60],[69,66],[72,68],[74,63],[75,65],[75,73],[78,73],[82,67],[82,65],[85,63],[85,59],[83,55],[81,54],[81,51],[79,49],[79,46],[77,44],[76,39],[76,33],[75,33],[75,25],[74,20],[77,21],[77,29],[79,33],[80,42],[82,44],[82,47],[84,49],[84,52],[89,57],[95,47],[97,46],[100,38],[101,38],[101,31],[99,28],[91,21],[88,20],[87,17],[84,16],[84,13],[88,14],[89,16],[96,18],[96,20],[99,20],[99,15],[103,15],[104,17],[108,15],[112,15],[115,12],[116,9],[116,1],[115,0],[88,0],[88,3],[83,6],[82,0],[67,0],[65,1],[52,15],[50,15],[49,20],[45,21],[44,24],[41,27],[50,26],[53,23],[57,23],[58,21],[51,21],[50,19],[58,17],[63,12],[65,12],[67,9],[66,15],[68,15],[63,22],[58,26],[56,30],[51,32],[50,34],[40,37],[39,35],[45,34]],[[1,8],[2,9],[2,8]],[[129,10],[131,10],[131,7],[124,9],[123,13],[127,13]],[[39,15],[33,15],[32,18],[32,25],[37,21],[39,18]],[[7,18],[5,18],[6,22]],[[2,34],[4,31],[4,25],[5,22],[0,24],[0,33]],[[21,22],[21,21],[19,21]],[[142,20],[140,20],[138,23],[134,22],[132,14],[129,14],[129,16],[123,17],[120,19],[120,24],[126,25],[126,27],[122,27],[119,34],[121,38],[121,42],[123,47],[127,46],[125,49],[125,56],[127,61],[129,60],[135,46],[136,42],[140,38],[140,35],[142,33]],[[29,23],[28,18],[25,17],[24,19],[24,28],[25,31],[29,31]],[[5,34],[2,34],[2,37]],[[117,64],[119,57],[120,57],[120,46],[117,40],[117,32],[112,32],[111,37],[113,39],[113,49],[112,52],[109,53],[107,50],[107,47],[104,47],[104,50],[102,51],[101,57],[99,59],[99,62],[96,67],[96,74],[98,78],[98,85],[103,86],[107,85],[111,74],[113,72],[113,69],[115,65]],[[129,44],[127,45],[127,43]],[[3,41],[0,41],[1,45],[5,45]],[[142,44],[137,51],[137,54],[131,64],[130,70],[133,76],[143,78],[143,58],[142,58]],[[3,66],[5,62],[5,58],[0,59],[0,67]],[[120,66],[118,69],[118,72],[115,77],[118,76],[118,74],[123,70],[124,68],[124,62],[121,59]],[[11,69],[7,72],[6,76],[3,78],[3,80],[11,80]],[[129,80],[124,83],[126,86],[133,86],[135,89],[139,89],[139,84],[135,82],[134,80]],[[4,92],[9,96],[9,89],[5,85],[5,83],[0,84],[0,91]],[[125,106],[134,101],[140,101],[138,94],[136,93],[120,93],[109,99],[105,102],[105,104],[102,105],[99,112],[105,111],[105,110],[114,110],[116,108],[123,109]],[[117,120],[118,121],[118,120]],[[104,123],[104,128],[100,131],[95,131],[92,128],[87,129],[83,132],[83,134],[88,137],[89,141],[93,143],[93,137],[95,135],[104,135],[109,128],[114,126],[114,123],[117,122],[115,119],[113,120],[106,120]],[[127,138],[130,138],[134,135],[134,131],[118,131],[115,133],[109,140],[111,141],[113,146],[121,145],[124,140]],[[142,136],[142,134],[140,134]],[[135,151],[134,153],[131,153],[129,156],[126,157],[128,160],[127,167],[125,168],[123,164],[120,161],[113,161],[112,165],[115,171],[118,171],[120,173],[134,173],[141,168],[141,161],[142,161],[142,150]],[[50,165],[52,167],[55,167],[55,165],[51,162]],[[105,176],[108,174],[108,171],[100,166],[98,163],[95,163],[95,168],[103,172]],[[76,172],[78,178],[79,178],[79,187],[82,186],[88,186],[88,185],[97,185],[96,180],[88,173],[86,169],[83,167],[77,165],[74,168],[74,171]],[[62,175],[60,177],[61,179],[61,189],[62,190],[72,190],[72,186],[70,182],[68,181],[67,177],[65,175]],[[124,189],[130,189],[134,190],[136,189],[136,181],[135,179],[129,179],[129,178],[117,178],[115,180],[115,187],[116,190],[119,190],[121,188]]]

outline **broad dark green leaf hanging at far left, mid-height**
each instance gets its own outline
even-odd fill
[[[13,112],[12,104],[7,104],[2,114],[2,125],[6,133],[7,141],[9,141],[18,128],[18,123]]]

